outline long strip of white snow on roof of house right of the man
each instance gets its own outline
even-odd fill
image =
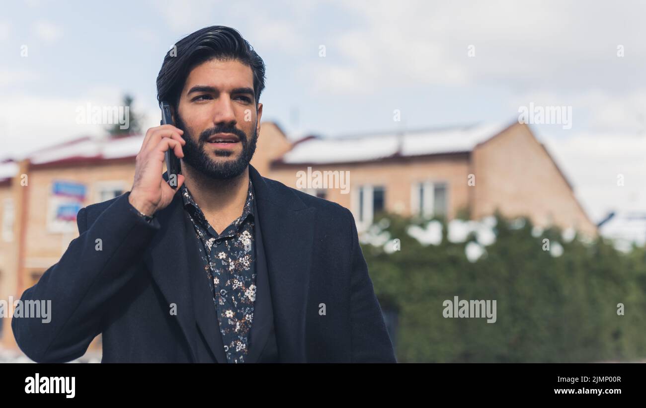
[[[401,156],[470,152],[509,125],[506,122],[403,134],[391,132],[348,138],[312,138],[297,143],[283,156],[282,161],[289,164],[372,161],[393,156],[398,150]]]

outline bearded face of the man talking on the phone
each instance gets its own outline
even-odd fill
[[[256,151],[262,103],[256,112],[253,72],[240,61],[212,59],[196,66],[186,79],[176,127],[184,131],[182,160],[205,176],[239,176]],[[233,143],[216,143],[219,137]]]

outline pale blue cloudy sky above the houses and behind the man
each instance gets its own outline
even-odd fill
[[[264,59],[263,120],[291,139],[569,107],[569,125],[530,127],[587,214],[646,213],[643,15],[637,1],[12,1],[0,15],[0,159],[101,134],[76,109],[126,92],[144,129],[157,126],[167,50],[227,25]]]

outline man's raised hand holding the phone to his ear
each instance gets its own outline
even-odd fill
[[[165,152],[174,150],[178,158],[183,158],[183,130],[173,125],[161,125],[149,128],[146,132],[141,150],[137,154],[134,167],[134,183],[128,201],[139,212],[152,216],[172,201],[175,193],[182,187],[184,176],[177,175],[177,189],[173,189],[161,177]]]

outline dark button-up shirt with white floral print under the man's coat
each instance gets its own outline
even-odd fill
[[[204,217],[186,185],[181,188],[184,209],[202,245],[200,254],[207,274],[224,352],[229,363],[244,363],[256,300],[253,185],[249,178],[242,215],[218,234]]]

